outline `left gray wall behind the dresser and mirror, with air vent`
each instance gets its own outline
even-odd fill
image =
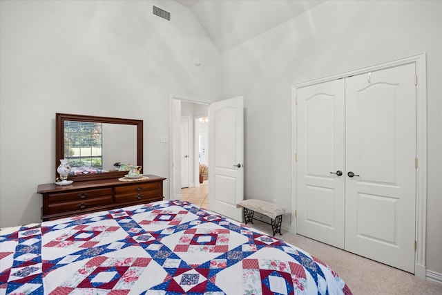
[[[169,178],[160,135],[171,93],[221,93],[220,54],[191,11],[175,1],[0,5],[0,227],[39,222],[37,185],[55,180],[55,113],[144,120],[144,173]]]

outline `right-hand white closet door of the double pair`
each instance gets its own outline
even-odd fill
[[[412,273],[414,75],[408,64],[345,81],[345,249]]]

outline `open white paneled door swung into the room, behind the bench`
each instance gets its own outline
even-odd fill
[[[209,209],[242,220],[244,195],[244,98],[209,106]]]

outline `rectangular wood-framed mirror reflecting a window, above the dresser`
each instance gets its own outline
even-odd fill
[[[115,163],[143,164],[143,121],[56,113],[56,178],[64,158],[71,166],[68,180],[120,178],[127,171],[118,171]]]

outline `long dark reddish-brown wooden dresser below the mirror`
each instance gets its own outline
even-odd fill
[[[41,219],[52,220],[102,210],[163,200],[163,181],[156,175],[148,180],[119,181],[117,178],[73,182],[66,186],[40,184],[43,196]]]

